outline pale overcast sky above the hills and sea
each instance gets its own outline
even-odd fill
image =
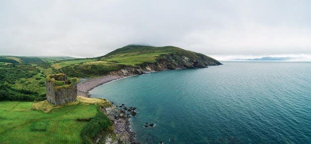
[[[218,60],[311,61],[311,0],[0,0],[0,55],[103,56],[129,44]]]

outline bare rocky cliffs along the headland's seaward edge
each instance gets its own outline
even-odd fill
[[[198,55],[197,58],[189,58],[176,54],[163,55],[155,64],[144,63],[139,67],[124,67],[118,71],[109,72],[111,75],[129,76],[134,74],[143,74],[145,72],[166,71],[188,68],[207,68],[208,66],[222,65],[217,60],[205,55]]]

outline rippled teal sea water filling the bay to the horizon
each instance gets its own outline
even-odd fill
[[[311,144],[310,62],[222,63],[130,76],[90,94],[136,107],[141,143]]]

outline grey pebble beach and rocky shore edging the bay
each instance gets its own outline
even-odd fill
[[[123,78],[125,76],[119,75],[106,75],[98,78],[91,78],[83,82],[78,83],[78,95],[83,97],[89,97],[88,91],[92,90],[98,85],[103,83]],[[106,141],[108,144],[118,144],[122,142],[125,144],[136,144],[135,143],[135,133],[131,131],[129,118],[126,116],[120,116],[121,109],[116,106],[111,106],[108,108],[102,108],[102,111],[112,120],[114,126],[114,134],[117,135],[117,140],[112,140],[111,138],[97,137],[97,141]],[[99,139],[101,138],[101,140]],[[114,141],[114,142],[112,142]]]

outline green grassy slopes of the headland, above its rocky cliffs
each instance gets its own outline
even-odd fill
[[[183,50],[173,46],[152,47],[142,45],[128,45],[96,59],[83,59],[80,60],[79,63],[77,62],[73,65],[56,63],[52,66],[54,68],[62,67],[60,72],[64,72],[71,76],[92,77],[105,75],[111,71],[120,70],[125,67],[137,68],[146,63],[155,64],[157,61],[164,59],[162,57],[163,55],[171,54],[185,56],[190,59],[199,59],[201,56],[203,56],[202,54]],[[63,63],[69,63],[69,61],[64,61]]]

